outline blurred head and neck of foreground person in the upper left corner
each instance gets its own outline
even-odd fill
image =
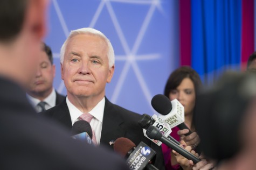
[[[46,32],[47,0],[0,0],[0,75],[26,86]]]

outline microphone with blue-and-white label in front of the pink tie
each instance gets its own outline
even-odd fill
[[[72,133],[71,137],[73,139],[86,141],[87,144],[94,145],[92,142],[92,136],[93,136],[92,128],[88,122],[84,120],[75,122],[72,126],[71,133]]]

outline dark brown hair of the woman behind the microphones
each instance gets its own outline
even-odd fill
[[[176,89],[185,78],[189,78],[193,82],[195,92],[198,94],[198,90],[202,86],[202,81],[200,80],[198,73],[189,66],[182,66],[174,70],[169,76],[164,88],[164,95],[169,98],[171,90]]]

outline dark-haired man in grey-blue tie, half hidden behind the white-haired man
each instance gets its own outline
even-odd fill
[[[50,109],[65,99],[53,88],[55,74],[51,48],[42,42],[37,71],[26,90],[27,98],[37,112]]]

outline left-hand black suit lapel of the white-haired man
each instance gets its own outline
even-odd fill
[[[59,121],[68,129],[72,129],[72,122],[70,117],[70,111],[68,110],[66,100],[56,106],[56,109],[52,110],[52,118]]]

